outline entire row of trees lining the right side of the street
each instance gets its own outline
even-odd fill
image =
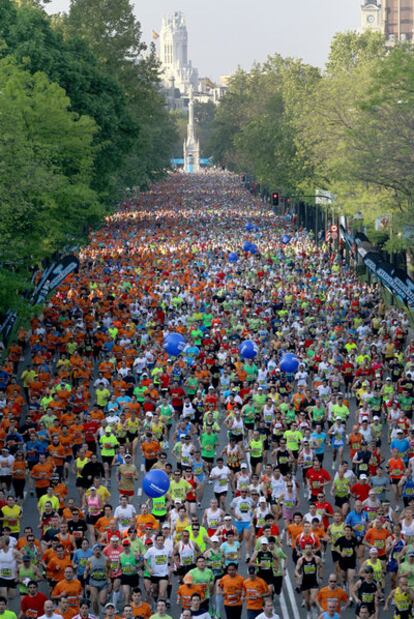
[[[324,72],[268,58],[238,71],[213,123],[215,160],[284,196],[331,191],[352,217],[391,215],[389,250],[410,249],[414,214],[414,47],[339,34]],[[309,198],[308,198],[309,199]]]

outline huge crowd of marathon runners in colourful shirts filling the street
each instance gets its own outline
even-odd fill
[[[410,619],[405,314],[226,173],[171,175],[80,260],[0,371],[0,619],[276,619],[287,575],[308,619]]]

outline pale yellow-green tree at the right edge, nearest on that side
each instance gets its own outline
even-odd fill
[[[413,214],[413,88],[411,46],[389,49],[373,33],[339,35],[299,120],[315,186],[330,189],[342,212],[361,211],[367,224]],[[393,217],[390,247],[402,221]]]

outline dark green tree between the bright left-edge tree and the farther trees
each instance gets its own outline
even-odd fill
[[[17,7],[4,0],[0,11],[4,41],[0,54],[13,54],[32,73],[46,73],[65,89],[72,110],[91,116],[99,126],[93,186],[101,199],[113,200],[120,185],[119,169],[137,129],[122,88],[99,67],[85,41],[78,36],[64,38],[62,24],[32,2]]]

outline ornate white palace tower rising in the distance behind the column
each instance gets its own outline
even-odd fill
[[[184,15],[179,11],[163,17],[160,32],[160,61],[165,87],[174,80],[181,94],[188,94],[190,87],[197,88],[198,72],[188,60],[188,35]]]

